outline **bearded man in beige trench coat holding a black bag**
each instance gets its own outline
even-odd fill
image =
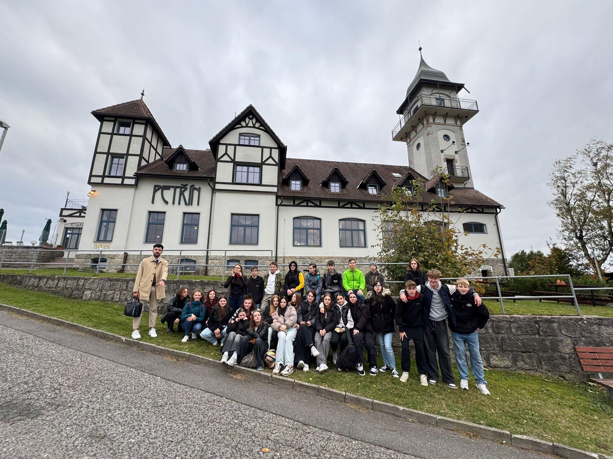
[[[153,246],[153,255],[140,262],[139,271],[136,274],[134,288],[132,292],[141,302],[149,301],[149,336],[157,338],[155,321],[158,318],[158,300],[166,297],[166,278],[168,277],[168,262],[161,258],[164,245],[156,244]],[[151,291],[154,288],[155,291]],[[144,310],[144,307],[143,307]],[[140,318],[143,315],[132,319],[132,338],[140,338],[139,326]]]

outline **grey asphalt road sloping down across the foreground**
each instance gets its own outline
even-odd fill
[[[238,378],[0,312],[0,458],[549,457]]]

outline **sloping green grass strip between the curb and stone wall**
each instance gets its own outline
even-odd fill
[[[132,331],[132,319],[123,315],[123,305],[115,303],[64,299],[2,283],[0,302],[125,337],[129,337]],[[143,341],[220,358],[218,347],[200,339],[181,343],[181,334],[169,334],[161,324],[158,338],[150,338],[145,331],[147,320],[148,313],[145,313],[142,319],[145,325],[141,327]],[[400,369],[399,355],[396,360]],[[341,373],[331,363],[333,371],[323,375],[314,371],[294,371],[292,378],[440,416],[509,430],[515,434],[600,453],[613,453],[613,403],[599,386],[573,383],[555,376],[489,370],[485,377],[492,396],[485,397],[474,388],[472,376],[468,391],[447,389],[443,384],[419,386],[414,362],[412,367],[409,381],[404,384],[389,373],[375,378],[368,375],[360,377],[354,371]]]

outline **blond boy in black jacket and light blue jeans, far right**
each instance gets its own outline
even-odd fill
[[[479,353],[479,333],[490,317],[490,312],[483,303],[477,305],[470,293],[470,283],[459,279],[455,286],[457,291],[451,295],[451,306],[455,312],[455,324],[449,319],[451,338],[454,340],[455,362],[460,373],[460,389],[468,390],[468,366],[466,365],[466,346],[470,356],[470,369],[473,371],[477,389],[481,394],[490,395],[483,371],[481,353]]]

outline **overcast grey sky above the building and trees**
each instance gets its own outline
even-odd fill
[[[145,102],[173,146],[252,103],[288,157],[406,165],[395,110],[424,59],[465,83],[474,186],[502,203],[507,256],[545,248],[552,163],[613,141],[613,3],[0,0],[0,207],[38,239],[85,199],[96,108]]]

